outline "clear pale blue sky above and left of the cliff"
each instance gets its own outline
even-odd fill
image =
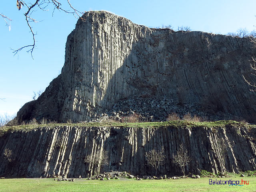
[[[25,1],[29,2],[29,1]],[[34,0],[30,0],[34,2]],[[68,9],[66,0],[59,0]],[[190,26],[192,30],[227,34],[239,28],[254,30],[255,0],[70,0],[74,8],[83,11],[107,10],[132,22],[148,27],[171,24]],[[75,28],[77,18],[52,7],[48,12],[37,10],[32,24],[36,35],[34,59],[25,50],[13,56],[10,48],[18,49],[32,43],[24,11],[16,8],[16,0],[2,1],[0,13],[12,19],[11,28],[0,18],[0,115],[16,114],[32,100],[33,91],[45,90],[58,76],[64,64],[68,34]]]

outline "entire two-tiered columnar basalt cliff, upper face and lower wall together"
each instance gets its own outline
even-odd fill
[[[36,119],[41,125],[0,130],[0,176],[85,177],[95,173],[85,156],[103,151],[109,163],[101,172],[153,175],[145,154],[162,147],[158,174],[180,174],[173,161],[180,144],[191,158],[186,173],[256,170],[251,125],[160,122],[172,112],[255,122],[256,94],[242,76],[256,82],[253,46],[249,38],[148,28],[86,12],[68,36],[61,74],[17,114],[18,124]],[[86,124],[134,113],[151,122]],[[68,124],[50,126],[46,119]]]

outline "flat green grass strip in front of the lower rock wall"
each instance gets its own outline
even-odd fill
[[[209,185],[212,180],[246,180],[248,185]],[[188,192],[256,191],[256,177],[200,178],[180,180],[84,180],[54,181],[53,178],[1,179],[0,192]]]

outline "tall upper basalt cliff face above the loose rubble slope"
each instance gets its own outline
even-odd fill
[[[104,11],[83,18],[67,38],[62,73],[20,109],[19,123],[90,120],[141,92],[253,121],[256,95],[242,77],[256,54],[248,38],[148,28]]]

